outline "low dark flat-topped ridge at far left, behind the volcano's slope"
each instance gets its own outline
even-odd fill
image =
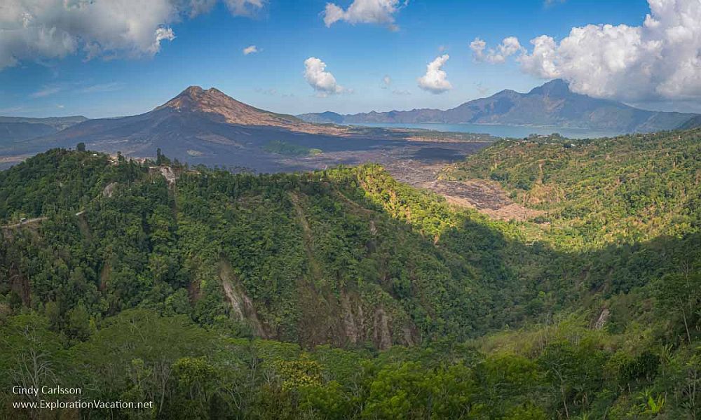
[[[83,116],[24,118],[0,117],[0,145],[23,141],[60,132],[88,120]]]

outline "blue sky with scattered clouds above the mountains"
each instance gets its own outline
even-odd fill
[[[552,78],[701,112],[701,0],[2,0],[0,115],[103,118],[190,85],[279,113],[449,109]]]

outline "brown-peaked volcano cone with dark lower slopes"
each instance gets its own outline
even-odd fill
[[[338,135],[344,129],[313,125],[238,102],[216,89],[189,87],[162,106],[138,116],[88,120],[40,139],[16,144],[6,153],[31,153],[85,142],[95,150],[152,156],[234,153],[292,134]]]

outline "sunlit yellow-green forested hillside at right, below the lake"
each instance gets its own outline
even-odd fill
[[[514,200],[545,211],[557,244],[598,247],[697,232],[701,130],[573,141],[501,141],[444,172],[498,181]]]

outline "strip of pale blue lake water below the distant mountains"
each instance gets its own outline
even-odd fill
[[[488,124],[442,124],[442,123],[363,123],[349,124],[365,127],[385,127],[385,128],[422,128],[426,130],[436,130],[440,132],[463,132],[463,133],[486,133],[496,137],[512,137],[522,139],[529,134],[552,134],[559,133],[570,139],[595,139],[598,137],[614,137],[623,134],[621,132],[587,130],[580,128],[562,127],[538,127],[531,125],[488,125]]]

